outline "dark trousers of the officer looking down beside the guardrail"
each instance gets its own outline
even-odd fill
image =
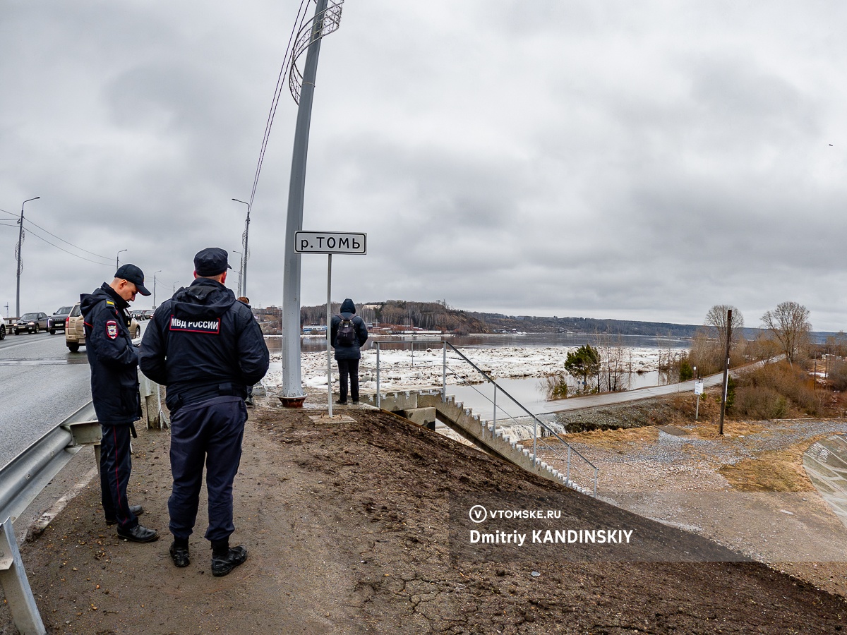
[[[100,500],[106,520],[115,519],[123,529],[132,529],[138,519],[126,500],[126,485],[130,482],[130,424],[101,423],[100,439]]]

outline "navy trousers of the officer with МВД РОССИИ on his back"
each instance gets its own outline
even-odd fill
[[[181,406],[170,419],[170,469],[174,489],[168,500],[170,533],[188,538],[197,521],[197,505],[206,465],[208,540],[230,538],[232,482],[241,462],[247,409],[236,396],[219,396]]]

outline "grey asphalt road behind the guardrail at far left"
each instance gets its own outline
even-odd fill
[[[0,466],[91,400],[85,351],[68,351],[62,332],[0,341]]]

